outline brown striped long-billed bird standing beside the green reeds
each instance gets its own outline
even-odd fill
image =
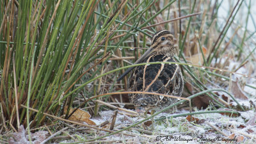
[[[150,62],[176,62],[174,38],[170,31],[162,30],[152,36],[150,48],[134,63]],[[154,92],[180,97],[183,92],[184,80],[177,63],[161,63],[152,65],[140,65],[130,67],[117,81],[124,78],[129,72],[128,88],[130,92]],[[163,97],[162,95],[150,95],[144,93],[131,93],[128,95],[130,102],[138,113],[159,111],[177,102],[177,99]]]

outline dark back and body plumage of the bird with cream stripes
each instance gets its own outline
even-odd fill
[[[175,62],[164,54],[152,54],[143,63],[166,61]],[[132,92],[155,92],[180,96],[183,90],[183,78],[179,66],[175,64],[141,65],[134,68],[129,79],[129,90]],[[130,94],[129,98],[135,107],[148,106],[164,108],[177,99],[159,95]]]

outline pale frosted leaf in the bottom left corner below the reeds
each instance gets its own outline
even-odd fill
[[[38,131],[35,133],[31,134],[32,138],[32,143],[33,144],[39,144],[42,141],[45,140],[46,134],[48,134],[47,131]],[[19,143],[24,143],[24,144],[29,144],[29,140],[27,139],[28,136],[26,136],[26,131],[23,127],[23,125],[20,125],[18,132],[15,132],[12,134],[13,138],[9,138],[8,143],[9,144],[19,144]]]

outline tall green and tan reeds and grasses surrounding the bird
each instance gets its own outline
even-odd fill
[[[1,131],[54,122],[43,113],[67,118],[65,106],[86,108],[93,116],[109,109],[97,101],[83,102],[127,91],[128,77],[116,83],[122,67],[136,61],[162,29],[175,36],[177,61],[184,63],[184,97],[211,88],[230,90],[230,79],[236,77],[248,95],[255,95],[251,1],[228,4],[227,15],[221,16],[223,1],[209,0],[0,1]],[[236,22],[241,6],[246,19]],[[254,30],[248,30],[248,19]],[[218,93],[204,96],[212,106],[228,108]],[[97,99],[132,108],[125,94]]]

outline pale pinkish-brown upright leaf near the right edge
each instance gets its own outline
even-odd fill
[[[234,95],[234,97],[236,97],[237,99],[248,100],[248,97],[244,95],[243,90],[239,86],[238,80],[232,81],[230,90],[231,90],[231,93]]]

